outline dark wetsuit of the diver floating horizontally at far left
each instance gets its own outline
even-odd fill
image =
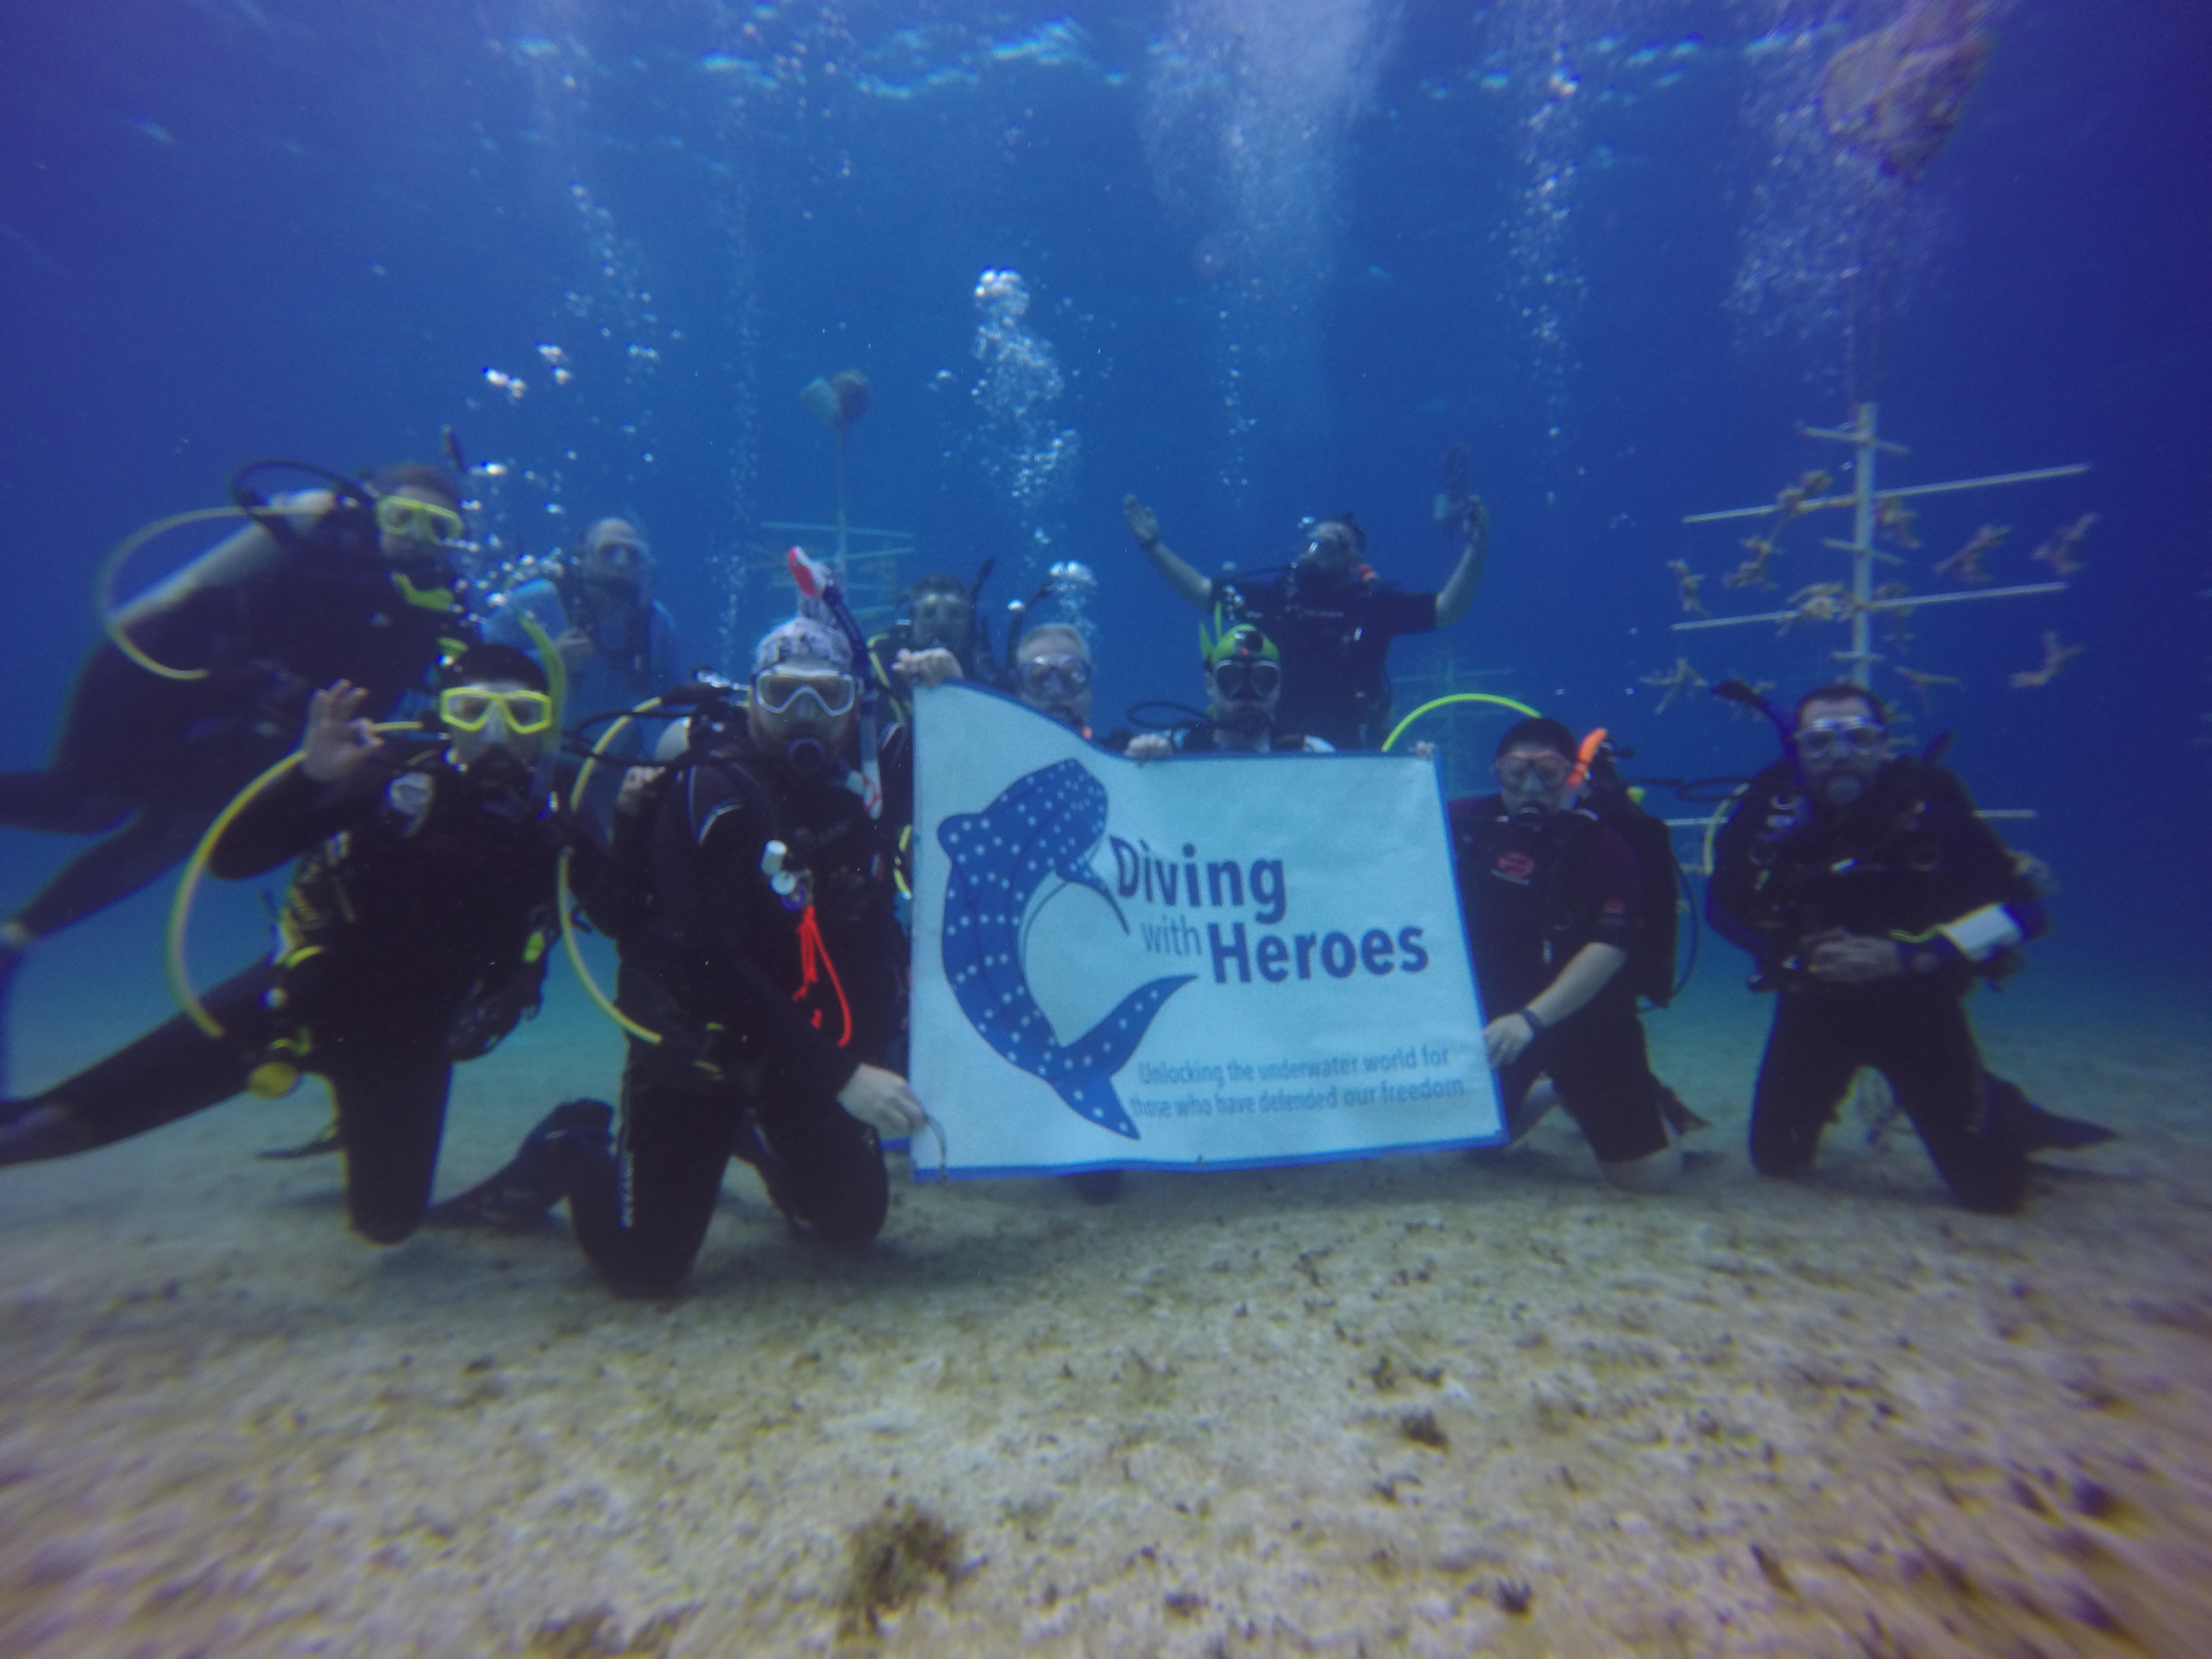
[[[53,763],[0,774],[0,825],[106,838],[15,925],[46,938],[173,869],[223,803],[299,743],[310,692],[349,679],[369,692],[363,719],[385,719],[460,626],[451,571],[387,564],[376,526],[345,507],[265,571],[133,626],[131,641],[157,664],[206,677],[164,679],[102,639],[77,672]]]

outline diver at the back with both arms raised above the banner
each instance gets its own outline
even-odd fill
[[[1150,507],[1128,495],[1121,513],[1137,546],[1168,586],[1199,611],[1228,606],[1254,622],[1283,653],[1285,726],[1340,750],[1380,748],[1391,728],[1389,641],[1449,628],[1475,599],[1489,555],[1491,520],[1467,493],[1464,451],[1447,460],[1438,524],[1458,538],[1458,562],[1440,593],[1400,593],[1367,566],[1367,531],[1352,513],[1307,520],[1298,553],[1276,582],[1203,577],[1166,542]]]

